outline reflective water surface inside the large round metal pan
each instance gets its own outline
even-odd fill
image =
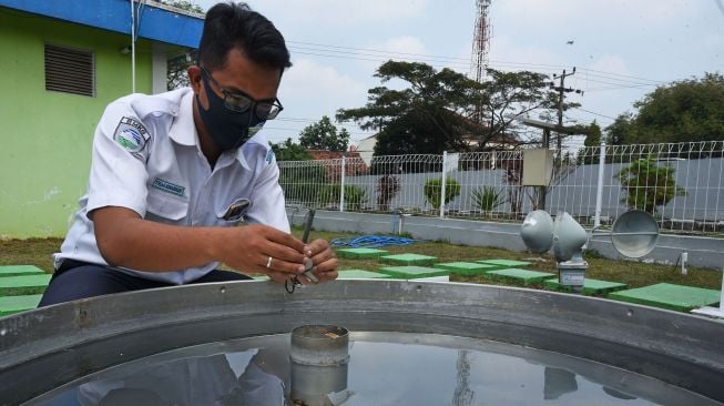
[[[349,354],[349,397],[338,397],[347,406],[708,403],[602,364],[479,339],[353,333]],[[32,404],[282,406],[288,357],[288,335],[213,343],[109,368]]]

